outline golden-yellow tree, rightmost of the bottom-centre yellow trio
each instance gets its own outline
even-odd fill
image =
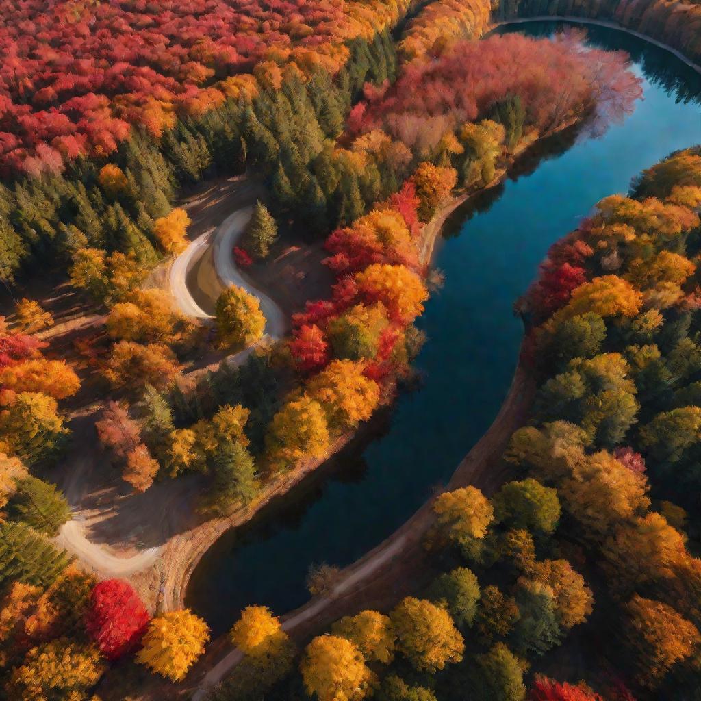
[[[436,672],[463,659],[465,641],[444,608],[405,597],[393,608],[390,620],[397,650],[419,671]]]

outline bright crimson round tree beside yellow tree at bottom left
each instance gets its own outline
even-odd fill
[[[108,660],[116,660],[137,646],[149,620],[146,607],[128,582],[108,579],[95,585],[85,625]]]

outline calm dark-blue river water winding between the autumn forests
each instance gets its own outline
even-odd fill
[[[501,31],[547,34],[554,26]],[[310,564],[350,564],[411,516],[436,484],[447,482],[508,391],[522,338],[512,304],[547,248],[597,200],[625,193],[640,170],[701,142],[701,110],[693,99],[701,95],[698,74],[634,37],[588,31],[592,43],[631,54],[644,78],[644,100],[601,139],[576,142],[564,154],[560,145],[559,154],[530,163],[534,172],[508,181],[498,198],[480,205],[482,212],[456,214],[436,259],[446,283],[418,321],[428,334],[416,362],[423,383],[400,397],[374,440],[346,451],[326,477],[207,552],[187,604],[215,634],[249,604],[278,614],[304,604]]]

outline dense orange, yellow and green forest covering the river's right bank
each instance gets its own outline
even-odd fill
[[[300,683],[320,699],[403,701],[465,688],[479,701],[697,688],[701,562],[683,529],[688,517],[697,532],[701,458],[699,155],[647,170],[630,198],[602,200],[552,247],[520,304],[531,320],[523,361],[539,389],[504,456],[517,479],[491,498],[474,486],[437,496],[427,547],[443,572],[388,615],[334,623],[299,658],[299,676],[264,681],[271,697]],[[554,285],[564,266],[576,285],[569,273]],[[529,674],[595,606],[610,640],[583,646],[593,655],[587,683]],[[277,630],[263,617],[249,634],[268,629]],[[244,698],[239,691],[232,678],[212,699]]]

